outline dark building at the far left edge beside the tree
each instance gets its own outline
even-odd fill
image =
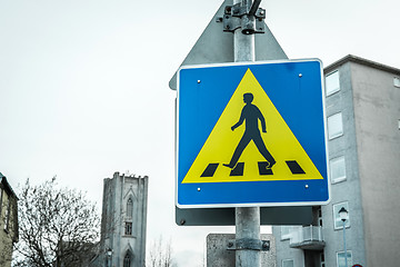
[[[0,267],[10,267],[13,244],[18,243],[18,198],[0,172]]]

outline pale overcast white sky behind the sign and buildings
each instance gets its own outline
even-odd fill
[[[168,82],[222,0],[0,0],[0,171],[18,191],[54,175],[101,207],[102,179],[149,176],[148,243],[200,266],[206,236],[174,225],[176,91]],[[400,68],[398,0],[264,0],[288,57]],[[187,260],[187,263],[183,263]]]

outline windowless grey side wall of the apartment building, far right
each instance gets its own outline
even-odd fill
[[[397,73],[351,65],[368,266],[399,266],[400,88]]]

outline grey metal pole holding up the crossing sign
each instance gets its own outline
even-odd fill
[[[233,4],[251,0],[233,0]],[[251,6],[251,4],[250,4]],[[254,61],[254,34],[243,34],[241,29],[234,31],[233,37],[234,61]],[[260,208],[236,208],[236,239],[260,240]],[[237,267],[260,267],[260,250],[239,249],[236,250]]]

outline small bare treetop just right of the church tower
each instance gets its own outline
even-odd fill
[[[151,244],[147,267],[172,267],[172,264],[171,240],[164,243],[160,236]]]

